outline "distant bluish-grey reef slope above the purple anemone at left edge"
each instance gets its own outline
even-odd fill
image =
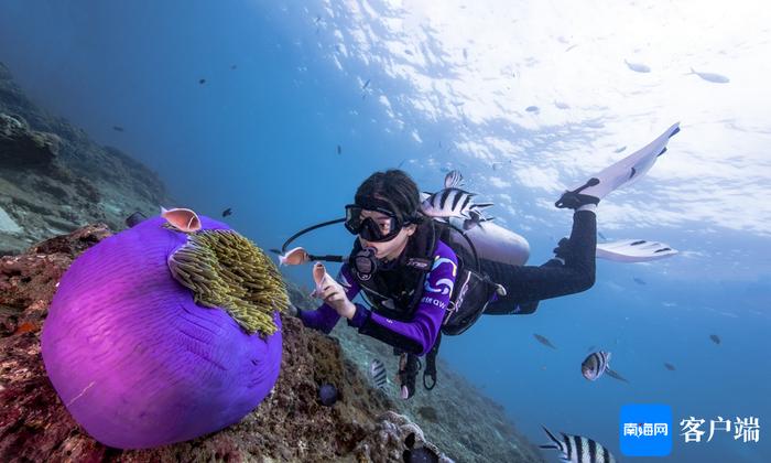
[[[35,106],[0,63],[0,255],[173,203],[156,174]]]

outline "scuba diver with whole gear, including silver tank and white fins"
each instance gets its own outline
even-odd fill
[[[400,355],[403,399],[415,394],[419,357],[426,356],[423,384],[430,390],[436,384],[435,359],[443,333],[460,334],[482,314],[531,314],[542,300],[586,291],[595,282],[596,256],[642,261],[676,252],[665,245],[636,240],[611,246],[601,255],[596,208],[608,193],[642,176],[678,130],[672,126],[642,150],[566,191],[555,206],[573,211],[571,236],[542,266],[524,265],[526,240],[485,217],[481,211],[489,205],[474,204],[474,195],[458,187],[463,179],[457,171],[447,174],[444,190],[423,195],[401,170],[376,172],[345,207],[345,218],[306,228],[284,244],[280,257],[284,265],[343,262],[337,279],[317,282],[315,295],[324,303],[316,310],[293,308],[294,315],[326,334],[346,319],[360,334],[392,346]],[[356,235],[349,256],[286,250],[297,236],[336,223]],[[369,308],[354,302],[358,294]]]

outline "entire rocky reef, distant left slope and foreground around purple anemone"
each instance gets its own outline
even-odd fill
[[[0,461],[402,462],[410,435],[445,462],[542,461],[502,407],[444,362],[434,390],[400,400],[393,380],[377,389],[367,373],[379,358],[395,375],[390,347],[345,323],[326,336],[292,316],[282,320],[279,380],[239,423],[151,450],[91,439],[46,376],[41,330],[74,259],[129,213],[154,215],[164,203],[175,202],[156,175],[35,108],[0,64]],[[310,290],[287,284],[293,303],[316,306]],[[322,385],[334,387],[330,405]]]

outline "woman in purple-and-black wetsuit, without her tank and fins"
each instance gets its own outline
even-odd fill
[[[508,311],[498,309],[490,313],[532,313],[534,304],[518,312],[517,302],[534,302],[591,287],[597,202],[586,196],[576,204],[579,211],[574,216],[571,243],[579,252],[566,257],[565,265],[518,267],[490,262],[495,265],[490,270],[497,270],[490,277],[499,283],[506,281],[506,300],[511,302],[495,304],[508,306]],[[415,391],[416,356],[428,354],[434,347],[458,276],[456,252],[434,238],[433,220],[421,213],[420,205],[417,185],[406,173],[390,170],[367,179],[357,190],[355,203],[346,206],[345,226],[358,239],[348,262],[340,268],[339,284],[323,288],[317,297],[324,304],[315,311],[297,310],[305,326],[329,333],[345,317],[359,333],[412,354],[403,355],[401,362],[404,398]],[[498,274],[503,270],[509,272],[507,278],[496,279],[503,277]],[[362,290],[371,310],[351,302]],[[435,372],[426,374],[435,380]]]

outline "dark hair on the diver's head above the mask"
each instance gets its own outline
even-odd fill
[[[390,169],[386,172],[376,172],[365,180],[356,191],[356,203],[371,197],[391,204],[393,213],[402,220],[419,223],[422,218],[417,184],[402,170]]]

